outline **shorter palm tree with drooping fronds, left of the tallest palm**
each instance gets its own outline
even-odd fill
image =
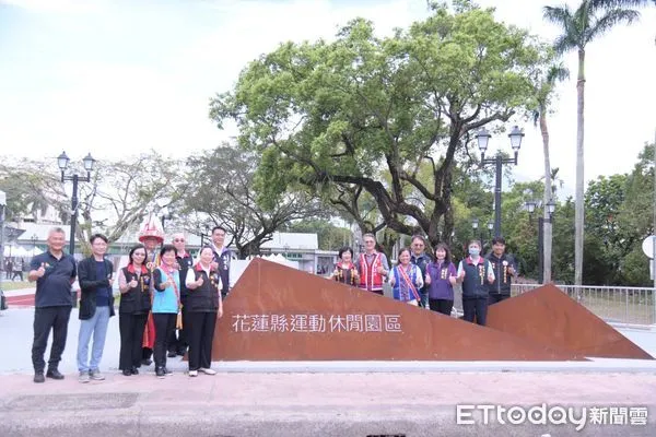
[[[547,203],[553,199],[553,188],[551,187],[551,179],[554,174],[551,170],[551,163],[549,161],[549,128],[547,127],[547,114],[551,103],[551,96],[557,82],[564,81],[570,78],[570,71],[562,63],[553,63],[549,67],[546,76],[539,82],[538,87],[538,108],[534,113],[534,122],[540,126],[540,133],[542,134],[542,150],[544,152],[544,194],[542,197],[543,208],[543,245],[542,245],[542,279],[544,283],[551,282],[551,220],[549,217],[549,210]],[[558,173],[558,169],[557,169]]]

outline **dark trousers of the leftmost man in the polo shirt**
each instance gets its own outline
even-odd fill
[[[70,306],[44,307],[34,309],[34,341],[32,343],[32,365],[35,373],[43,373],[46,367],[44,354],[48,345],[48,336],[52,330],[52,345],[48,368],[56,369],[66,347],[68,321],[71,316]]]

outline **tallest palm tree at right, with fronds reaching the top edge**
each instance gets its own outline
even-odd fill
[[[574,218],[574,283],[581,285],[583,279],[583,233],[584,233],[584,103],[585,103],[585,49],[595,38],[623,23],[632,23],[640,13],[631,7],[643,5],[644,0],[583,0],[575,11],[569,5],[544,7],[546,20],[559,25],[562,34],[554,42],[559,55],[570,50],[578,52],[578,74],[576,78],[576,192]]]

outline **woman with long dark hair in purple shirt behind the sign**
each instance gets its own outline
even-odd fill
[[[454,285],[456,267],[450,260],[448,246],[441,243],[435,246],[435,262],[426,264],[425,284],[429,285],[429,306],[431,310],[450,316],[454,307]]]

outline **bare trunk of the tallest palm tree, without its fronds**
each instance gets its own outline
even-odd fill
[[[578,76],[576,81],[576,193],[574,214],[574,284],[583,283],[583,236],[584,236],[584,102],[585,102],[585,50],[578,49]]]

